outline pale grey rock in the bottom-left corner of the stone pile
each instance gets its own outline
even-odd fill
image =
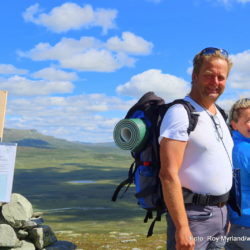
[[[20,246],[15,230],[8,224],[0,224],[0,247]]]

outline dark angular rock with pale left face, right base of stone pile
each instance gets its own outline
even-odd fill
[[[30,239],[34,242],[36,248],[38,249],[43,249],[57,241],[54,232],[47,225],[31,229]]]

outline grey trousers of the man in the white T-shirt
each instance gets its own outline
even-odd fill
[[[187,205],[189,227],[195,249],[223,249],[228,228],[227,207]],[[175,250],[175,226],[167,214],[167,250]]]

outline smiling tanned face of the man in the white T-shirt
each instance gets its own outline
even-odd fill
[[[193,90],[199,99],[215,102],[226,86],[228,64],[221,58],[204,60],[200,72],[193,74]]]

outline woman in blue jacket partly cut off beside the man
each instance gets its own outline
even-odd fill
[[[229,208],[231,230],[226,249],[250,249],[250,99],[238,100],[230,111],[234,140],[233,166],[240,169],[241,213]]]

